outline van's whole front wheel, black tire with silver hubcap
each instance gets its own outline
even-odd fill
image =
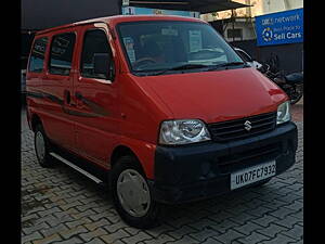
[[[128,184],[128,180],[132,183]],[[116,210],[126,223],[139,229],[158,226],[160,205],[152,198],[145,174],[136,158],[122,156],[118,159],[112,169],[110,190]]]

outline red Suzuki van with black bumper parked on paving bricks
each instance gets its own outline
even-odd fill
[[[130,226],[161,203],[265,183],[295,163],[288,97],[207,23],[113,16],[39,31],[27,116],[41,166],[110,185]]]

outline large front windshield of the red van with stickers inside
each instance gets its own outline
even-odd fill
[[[130,69],[135,74],[202,72],[244,64],[223,38],[204,23],[132,22],[119,24],[117,30]]]

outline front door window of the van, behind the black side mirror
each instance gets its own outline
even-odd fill
[[[83,47],[80,62],[80,74],[86,78],[105,79],[105,75],[96,74],[94,70],[94,56],[96,54],[108,54],[112,60],[112,50],[107,36],[103,29],[87,30],[83,38]],[[110,62],[110,73],[114,72],[114,63]]]

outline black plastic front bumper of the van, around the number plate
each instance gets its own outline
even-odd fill
[[[157,146],[154,200],[178,204],[230,192],[231,174],[276,160],[276,175],[295,164],[298,131],[294,123],[253,138],[227,143],[205,142],[185,146]]]

